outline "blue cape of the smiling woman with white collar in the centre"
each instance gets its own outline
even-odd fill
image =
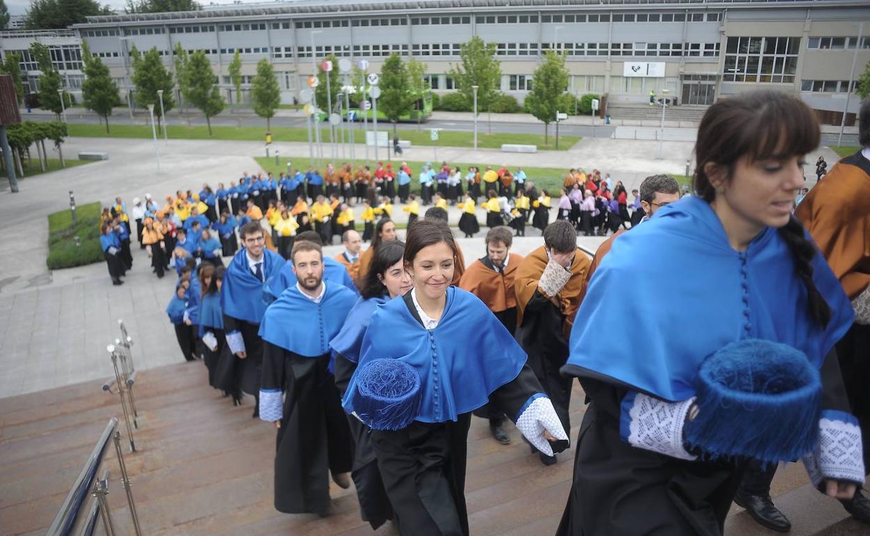
[[[357,370],[384,358],[405,361],[419,374],[422,400],[416,420],[443,422],[483,406],[493,391],[519,375],[526,355],[483,301],[450,287],[432,330],[414,318],[404,299],[378,306],[363,337]],[[355,411],[357,375],[342,401],[349,414]]]

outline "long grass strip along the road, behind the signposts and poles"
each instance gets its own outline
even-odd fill
[[[386,125],[389,127],[389,125]],[[106,134],[105,127],[81,123],[70,123],[67,127],[70,136],[80,137],[119,137],[119,138],[151,138],[151,127],[145,125],[110,125],[110,133]],[[184,125],[169,125],[169,137],[188,140],[245,140],[251,142],[265,141],[265,128],[260,127],[224,127],[211,128],[213,136],[209,136],[209,130],[204,126],[186,127]],[[290,127],[275,127],[271,129],[274,142],[307,142],[308,129],[294,129]],[[474,143],[472,132],[453,132],[441,130],[439,132],[438,146],[440,147],[471,147]],[[339,135],[340,136],[340,135]],[[345,135],[346,136],[346,135]],[[432,140],[427,129],[402,130],[399,137],[408,140],[417,146],[432,146]],[[356,142],[365,140],[364,131],[358,126],[354,129]],[[321,127],[321,139],[329,140],[329,129]],[[560,136],[559,149],[568,150],[580,141],[579,136]],[[544,136],[537,134],[483,134],[478,133],[478,148],[501,149],[502,143],[521,143],[537,145],[539,149],[555,149],[555,139],[550,136],[548,144],[544,143]]]

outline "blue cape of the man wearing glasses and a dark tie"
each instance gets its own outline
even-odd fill
[[[224,314],[258,324],[263,320],[263,314],[268,305],[265,300],[267,288],[271,279],[278,275],[284,266],[284,258],[277,253],[263,249],[263,275],[265,281],[259,281],[251,273],[248,266],[248,251],[240,248],[232,257],[230,265],[224,273],[224,284],[220,289],[220,306]]]

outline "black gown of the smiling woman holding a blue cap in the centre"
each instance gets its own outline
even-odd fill
[[[417,319],[411,293],[405,305]],[[490,394],[490,404],[516,417],[532,394],[542,393],[532,369]],[[372,430],[371,444],[378,457],[386,493],[396,513],[399,532],[413,536],[466,536],[465,466],[471,414],[458,420],[420,422],[401,430]]]

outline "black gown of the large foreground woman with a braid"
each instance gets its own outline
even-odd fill
[[[578,374],[573,367],[567,365],[566,374]],[[834,350],[820,372],[821,407],[848,411]],[[580,384],[591,401],[575,444],[574,481],[557,536],[721,536],[749,462],[678,460],[632,447],[619,436],[619,404],[626,388],[604,376],[583,374]]]

